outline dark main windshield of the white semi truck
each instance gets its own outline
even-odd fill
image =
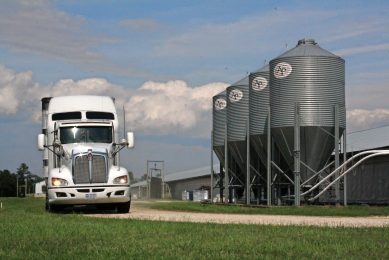
[[[112,143],[111,126],[70,126],[60,128],[62,144]]]

